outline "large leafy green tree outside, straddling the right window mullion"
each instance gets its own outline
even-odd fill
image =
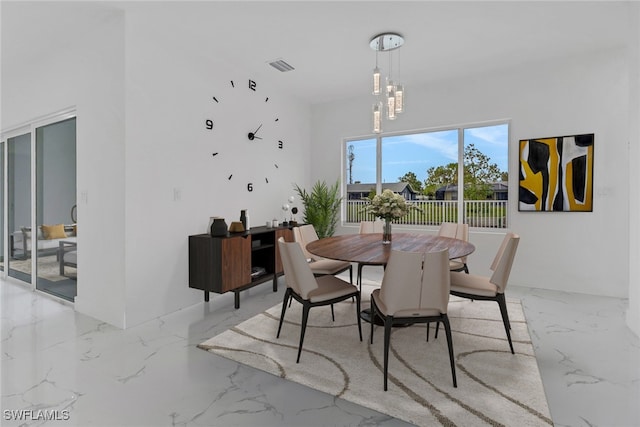
[[[464,147],[464,198],[467,200],[484,200],[491,195],[491,184],[506,181],[507,172],[500,171],[491,159],[478,150],[473,144]],[[434,196],[438,188],[445,185],[458,184],[458,164],[449,163],[427,169],[424,181],[425,194]]]

